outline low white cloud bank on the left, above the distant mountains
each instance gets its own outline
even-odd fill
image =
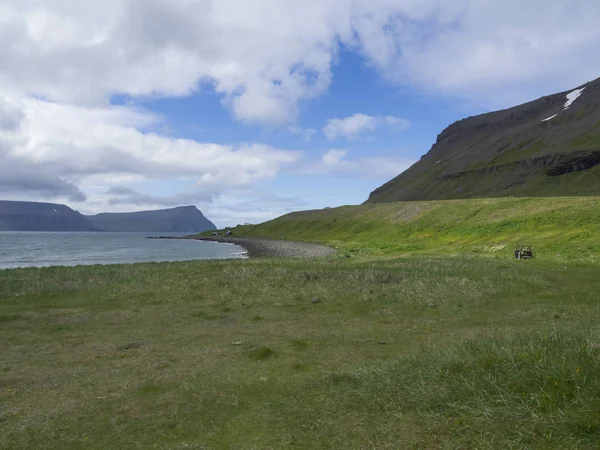
[[[0,99],[3,111],[6,104]],[[5,192],[30,190],[83,201],[86,186],[106,186],[111,179],[188,177],[196,180],[195,195],[206,199],[273,177],[299,156],[260,144],[218,145],[143,133],[140,129],[160,117],[130,107],[84,108],[32,98],[10,104],[13,113],[7,117],[20,121],[0,129]]]

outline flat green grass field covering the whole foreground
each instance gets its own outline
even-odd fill
[[[0,448],[600,443],[592,264],[20,269],[0,271],[0,299]]]

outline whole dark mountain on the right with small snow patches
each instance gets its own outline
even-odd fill
[[[600,195],[600,79],[459,120],[366,203]]]

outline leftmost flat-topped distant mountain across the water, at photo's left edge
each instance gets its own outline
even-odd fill
[[[65,205],[0,200],[0,231],[95,231],[83,215]]]

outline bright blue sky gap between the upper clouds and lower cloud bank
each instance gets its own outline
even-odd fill
[[[485,112],[481,106],[466,101],[428,95],[394,85],[383,80],[359,55],[342,51],[332,69],[333,82],[324,95],[307,100],[300,106],[297,120],[286,126],[270,127],[247,124],[223,107],[222,96],[210,87],[184,98],[123,99],[133,101],[165,117],[160,131],[173,136],[211,141],[260,141],[274,147],[322,153],[336,146],[357,156],[405,156],[414,159],[429,150],[436,135],[451,122],[465,115]],[[394,116],[410,121],[408,128],[381,127],[364,132],[354,139],[327,139],[323,128],[330,118],[345,118],[354,114]],[[314,130],[307,139],[299,130]],[[337,147],[336,147],[337,148]]]

